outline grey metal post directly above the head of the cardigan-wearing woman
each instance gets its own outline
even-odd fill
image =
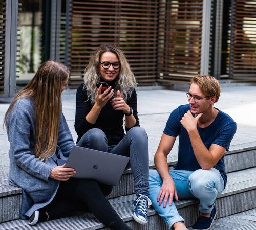
[[[50,59],[59,60],[61,0],[51,1]]]

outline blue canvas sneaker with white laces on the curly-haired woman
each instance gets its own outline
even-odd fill
[[[138,195],[133,202],[134,220],[145,225],[147,223],[147,208],[150,208],[150,205],[152,205],[150,198],[142,194]]]

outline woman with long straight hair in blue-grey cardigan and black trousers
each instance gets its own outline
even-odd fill
[[[67,159],[75,145],[61,109],[68,79],[62,63],[43,63],[6,112],[9,183],[23,189],[20,217],[35,225],[81,209],[110,229],[131,230],[105,198],[112,187],[72,178],[74,169],[57,165],[57,159]]]

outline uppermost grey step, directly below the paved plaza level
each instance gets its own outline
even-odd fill
[[[170,168],[177,161],[177,153],[169,154],[168,162]],[[238,171],[256,166],[256,142],[242,145],[233,145],[230,151],[226,152],[225,165],[227,172]],[[150,168],[155,168],[151,162]],[[0,172],[0,223],[19,218],[19,206],[21,202],[22,189],[8,184],[8,174]],[[134,182],[131,169],[124,172],[119,185],[113,188],[108,198],[115,198],[134,193]]]

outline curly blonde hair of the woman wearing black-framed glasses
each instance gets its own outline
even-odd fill
[[[127,62],[123,52],[111,44],[102,44],[92,54],[89,64],[84,70],[84,85],[83,88],[87,90],[87,96],[91,100],[92,104],[96,102],[97,87],[96,83],[100,81],[100,58],[104,52],[114,53],[121,66],[115,83],[115,95],[117,90],[120,91],[122,98],[126,101],[132,94],[133,89],[137,85],[133,72],[131,71],[130,65]]]

